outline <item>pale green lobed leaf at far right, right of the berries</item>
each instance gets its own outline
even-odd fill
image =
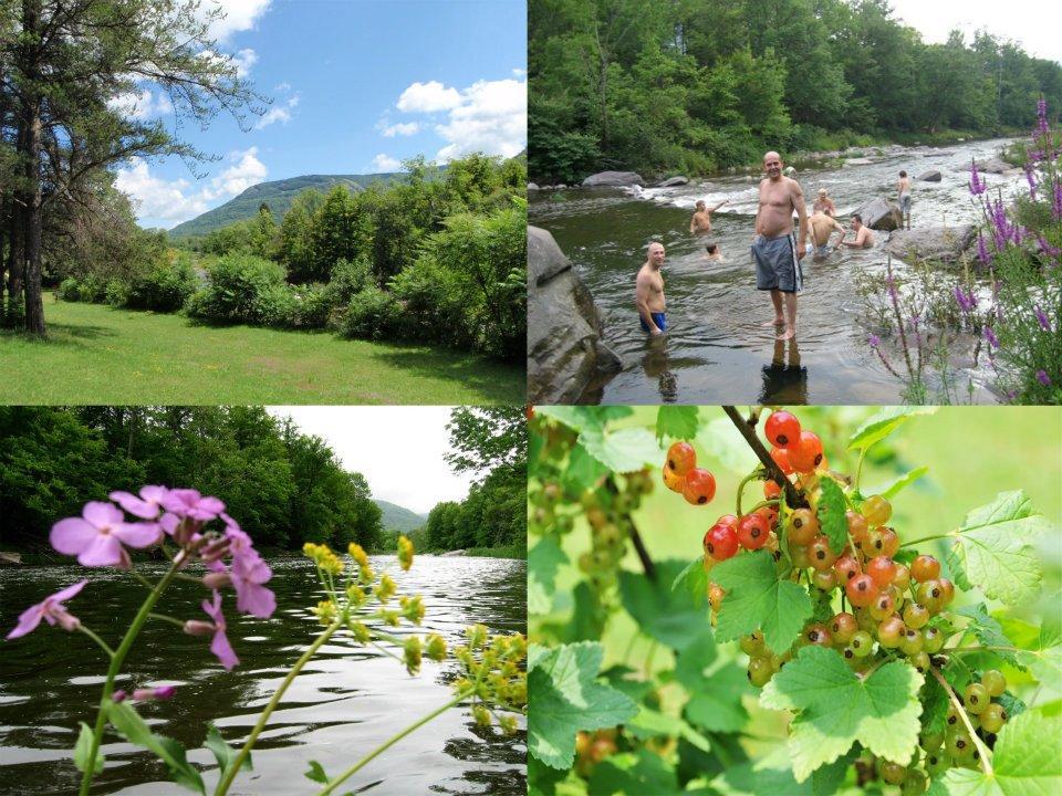
[[[986,597],[1008,605],[1032,599],[1043,577],[1035,540],[1051,530],[1024,492],[1001,492],[951,532],[947,558],[955,583],[964,589],[977,585]]]

